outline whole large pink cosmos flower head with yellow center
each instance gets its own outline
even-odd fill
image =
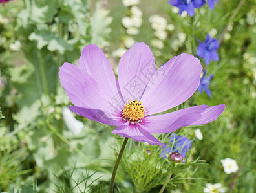
[[[70,110],[102,124],[134,141],[162,145],[150,133],[169,133],[180,127],[216,120],[225,105],[200,105],[163,115],[190,98],[200,84],[200,60],[183,53],[157,71],[155,58],[144,42],[136,43],[121,57],[118,80],[98,46],[85,46],[78,67],[65,63],[59,68]]]

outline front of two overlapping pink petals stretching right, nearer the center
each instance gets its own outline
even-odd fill
[[[141,124],[150,133],[170,133],[199,120],[202,117],[202,112],[207,107],[206,105],[201,105],[173,111],[164,115],[146,116]]]

